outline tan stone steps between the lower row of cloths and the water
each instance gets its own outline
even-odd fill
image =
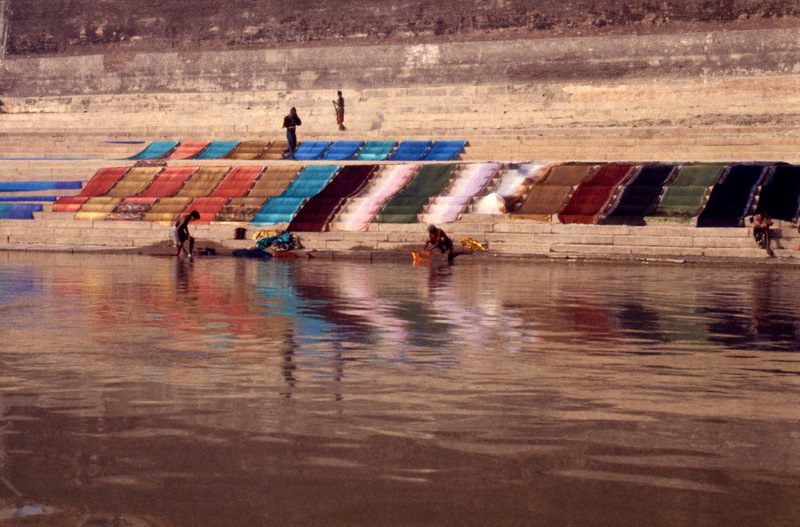
[[[35,245],[64,247],[107,246],[137,248],[169,246],[169,223],[132,221],[82,221],[71,214],[42,212],[34,221],[0,220],[0,242],[7,248]],[[484,217],[482,220],[486,220]],[[198,243],[224,248],[246,248],[252,240],[235,240],[234,232],[245,227],[248,236],[259,230],[238,223],[193,225]],[[766,252],[755,246],[748,228],[696,229],[692,227],[628,227],[560,225],[541,223],[459,222],[445,230],[456,242],[464,236],[484,244],[495,254],[573,254],[598,256],[660,256],[758,258]],[[792,250],[800,244],[794,228],[776,229],[776,254],[800,258]],[[297,236],[307,249],[319,251],[414,250],[427,238],[424,224],[371,224],[366,232],[301,232]],[[0,246],[2,247],[2,246]]]

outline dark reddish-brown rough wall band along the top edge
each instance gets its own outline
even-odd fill
[[[12,0],[8,54],[537,38],[798,15],[796,0]]]

